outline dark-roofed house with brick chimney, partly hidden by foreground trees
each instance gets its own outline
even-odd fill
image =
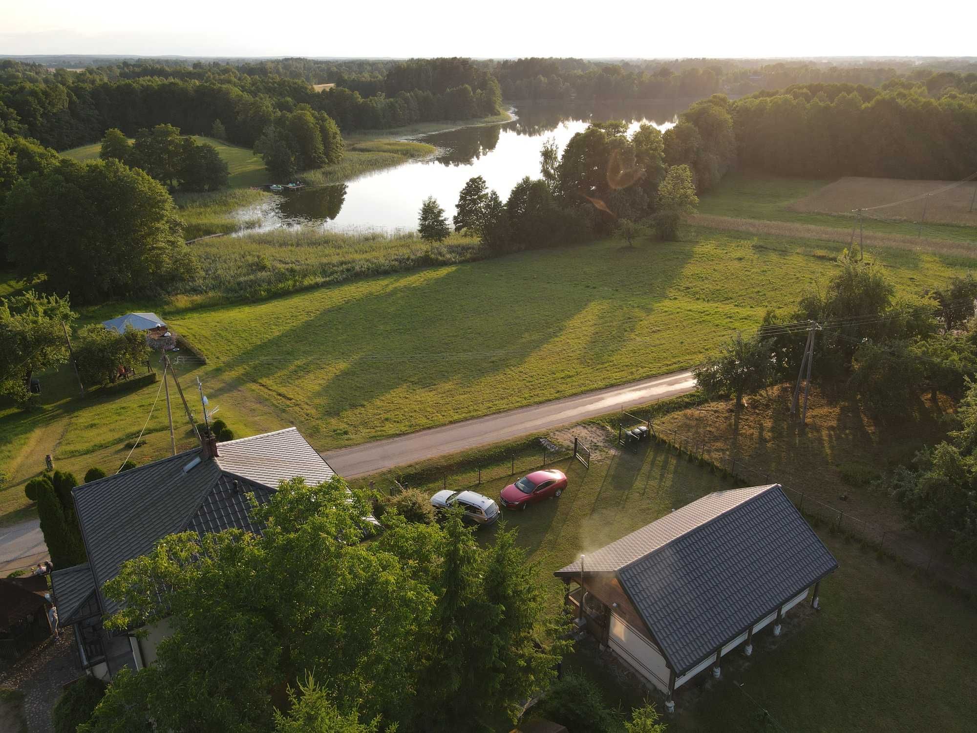
[[[103,618],[119,610],[103,585],[124,562],[145,555],[157,540],[178,532],[198,535],[236,528],[260,533],[249,509],[253,494],[267,501],[279,482],[309,485],[335,476],[295,428],[203,446],[75,487],[75,511],[88,562],[51,576],[60,623],[71,626],[82,666],[98,677],[155,660],[165,622],[144,638],[135,629],[107,633]]]

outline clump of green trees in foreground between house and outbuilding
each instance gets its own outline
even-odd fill
[[[113,680],[79,730],[138,730],[148,717],[172,730],[319,730],[359,714],[449,731],[517,711],[548,685],[564,645],[542,649],[534,634],[563,629],[510,533],[483,548],[457,515],[441,527],[388,513],[386,531],[362,543],[368,512],[341,479],[283,482],[252,510],[261,537],[175,535],[125,563],[106,583],[122,604],[107,625],[167,617],[172,634],[152,666]],[[302,695],[276,714],[286,687]]]

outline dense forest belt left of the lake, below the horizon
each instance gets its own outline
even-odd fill
[[[304,77],[275,65],[170,67],[155,62],[68,72],[0,62],[0,131],[65,150],[101,139],[108,128],[133,136],[156,124],[207,135],[221,120],[228,140],[254,146],[281,113],[321,112],[344,131],[437,119],[470,119],[499,111],[501,92],[488,70],[467,59],[393,65],[384,90],[371,97],[336,87],[317,92]]]

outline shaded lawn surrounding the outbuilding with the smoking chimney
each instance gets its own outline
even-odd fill
[[[663,446],[604,457],[589,469],[571,459],[556,466],[570,478],[563,496],[503,515],[507,526],[518,528],[553,608],[564,593],[553,571],[580,553],[700,496],[734,488]],[[524,463],[520,475],[530,470]],[[487,481],[476,491],[496,497],[513,478]],[[485,528],[476,536],[490,542],[496,531]],[[769,628],[758,634],[747,663],[733,652],[723,658],[721,680],[706,672],[681,688],[668,730],[754,733],[757,708],[744,692],[791,733],[969,729],[977,713],[977,678],[968,673],[977,654],[970,632],[977,610],[871,549],[817,531],[840,566],[822,582],[822,611],[798,607],[779,639]],[[590,675],[612,707],[629,711],[650,696],[663,711],[659,697],[618,677],[585,649],[571,655],[565,670]]]

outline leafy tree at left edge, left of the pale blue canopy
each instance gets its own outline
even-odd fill
[[[64,328],[76,318],[57,295],[30,290],[0,298],[0,394],[28,407],[31,375],[67,361]]]

